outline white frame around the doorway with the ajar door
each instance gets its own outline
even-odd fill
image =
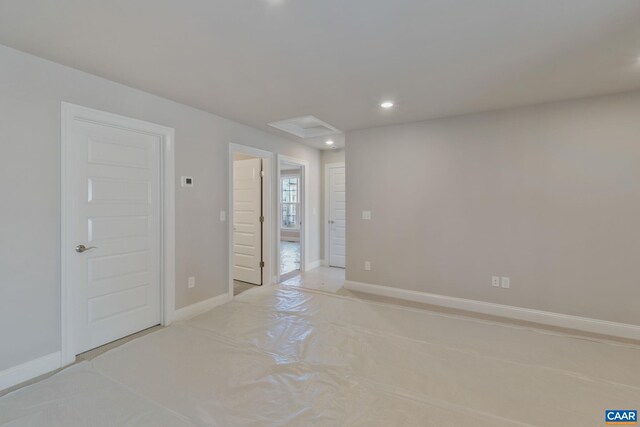
[[[228,189],[229,195],[228,208],[227,208],[227,240],[228,240],[228,255],[229,255],[229,300],[234,298],[233,295],[233,155],[234,154],[246,154],[248,156],[259,157],[262,159],[262,169],[264,170],[264,179],[262,180],[262,214],[264,215],[264,223],[262,225],[262,254],[264,261],[264,270],[262,270],[262,284],[272,284],[273,275],[273,245],[271,244],[271,235],[273,233],[274,221],[273,221],[273,207],[272,207],[272,194],[273,194],[273,158],[274,155],[270,151],[260,150],[259,148],[250,147],[248,145],[229,143],[229,163],[228,163]]]

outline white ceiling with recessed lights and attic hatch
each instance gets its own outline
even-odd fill
[[[0,0],[0,43],[271,132],[640,88],[638,0]]]

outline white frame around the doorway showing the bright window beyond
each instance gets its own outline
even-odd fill
[[[307,236],[309,235],[309,162],[307,160],[296,159],[294,157],[285,156],[282,154],[278,154],[277,158],[278,162],[278,174],[277,174],[277,189],[278,194],[276,194],[276,282],[280,282],[280,233],[282,230],[282,221],[280,220],[280,215],[282,213],[282,197],[280,197],[282,193],[282,180],[281,172],[282,172],[282,162],[291,163],[294,165],[300,166],[300,179],[302,180],[302,201],[300,206],[302,206],[302,227],[300,227],[300,273],[304,273],[306,270],[309,270],[309,265],[307,264],[308,254],[309,254],[309,239]]]

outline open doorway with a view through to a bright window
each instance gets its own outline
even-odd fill
[[[278,275],[280,281],[304,271],[305,165],[280,156],[278,161]]]

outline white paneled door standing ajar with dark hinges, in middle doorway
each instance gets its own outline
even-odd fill
[[[233,278],[262,284],[262,159],[233,162]]]

